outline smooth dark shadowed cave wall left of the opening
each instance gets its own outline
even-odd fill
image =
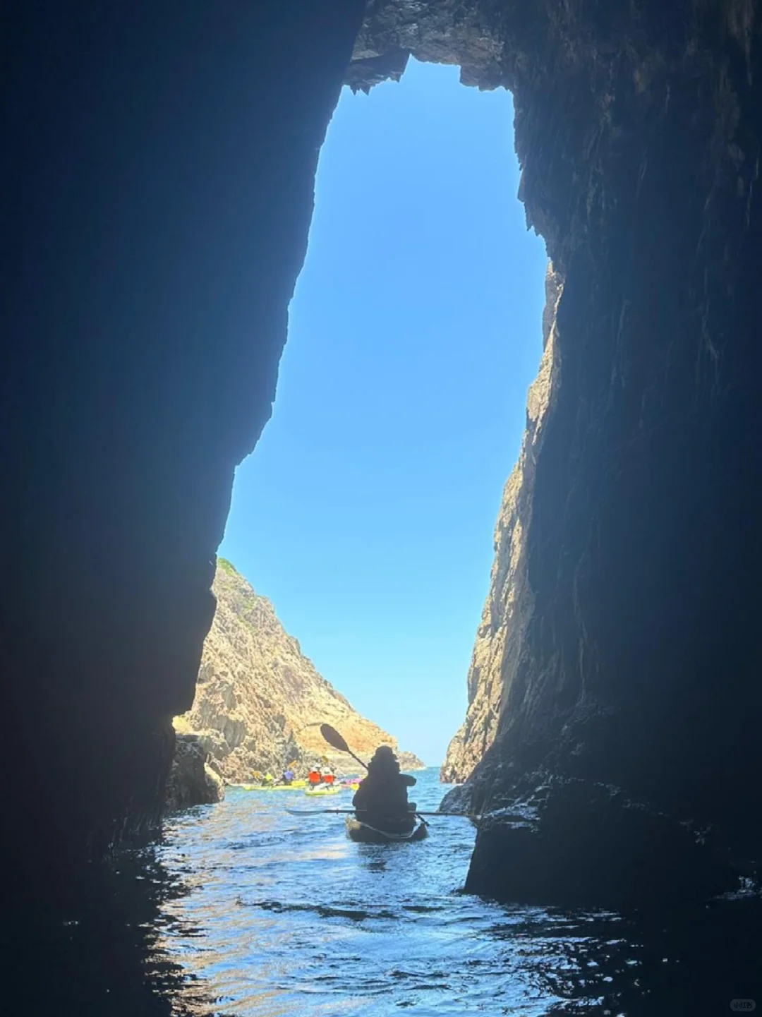
[[[360,16],[358,0],[6,10],[0,641],[15,862],[65,870],[156,815]]]

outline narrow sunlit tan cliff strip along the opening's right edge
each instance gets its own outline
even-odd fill
[[[503,491],[494,531],[494,563],[489,593],[476,633],[468,670],[468,712],[448,746],[441,776],[461,783],[470,776],[494,740],[503,704],[532,616],[532,588],[527,573],[527,534],[532,518],[534,475],[544,436],[545,417],[559,380],[555,312],[563,290],[561,276],[548,264],[542,320],[542,359],[527,397],[527,423],[519,460]]]

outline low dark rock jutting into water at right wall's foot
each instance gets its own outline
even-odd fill
[[[467,891],[631,911],[701,902],[739,887],[727,850],[705,829],[617,787],[546,775],[524,790],[515,788],[506,809],[495,802],[480,823]]]

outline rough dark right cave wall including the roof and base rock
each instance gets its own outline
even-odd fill
[[[412,52],[513,91],[520,196],[565,279],[532,615],[467,789],[475,811],[523,802],[530,822],[482,826],[467,888],[633,902],[683,859],[682,890],[716,889],[726,850],[760,849],[755,7],[369,11],[355,86]],[[711,858],[688,820],[713,825]]]

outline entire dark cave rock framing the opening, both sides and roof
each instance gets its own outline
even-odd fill
[[[469,888],[555,899],[548,872],[610,870],[611,828],[679,852],[688,818],[752,854],[754,5],[373,0],[346,71],[360,8],[10,8],[0,640],[22,779],[3,849],[40,878],[155,815],[326,126],[345,72],[367,86],[413,52],[511,87],[522,199],[566,281],[533,614],[470,788],[485,810],[552,794],[528,850],[484,825]],[[626,864],[606,893],[638,885]]]

